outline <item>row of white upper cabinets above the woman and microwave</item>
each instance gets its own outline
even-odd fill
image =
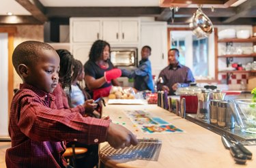
[[[139,18],[70,18],[71,43],[139,44]]]

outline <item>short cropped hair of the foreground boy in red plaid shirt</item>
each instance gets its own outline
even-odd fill
[[[54,50],[54,48],[40,41],[24,41],[18,44],[12,54],[12,65],[18,73],[18,65],[33,65],[38,61],[40,50]]]

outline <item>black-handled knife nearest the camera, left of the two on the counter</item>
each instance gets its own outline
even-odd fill
[[[231,144],[231,142],[229,142],[224,135],[221,136],[221,140],[223,141],[225,148],[230,150],[230,153],[233,156],[236,163],[244,165],[247,161],[247,156],[242,152],[242,150],[240,150],[238,145]]]

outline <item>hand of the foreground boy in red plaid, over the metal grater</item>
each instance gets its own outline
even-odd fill
[[[126,146],[136,146],[138,140],[135,135],[132,134],[128,129],[119,124],[109,124],[108,135],[106,141],[109,142],[113,148],[125,148]]]

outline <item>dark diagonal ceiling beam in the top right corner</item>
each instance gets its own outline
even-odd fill
[[[230,18],[227,18],[223,21],[223,23],[229,23],[233,22],[234,20],[237,20],[238,18],[242,18],[251,12],[254,12],[256,9],[256,1],[255,0],[247,0],[238,7],[236,7],[236,14],[231,16]]]

